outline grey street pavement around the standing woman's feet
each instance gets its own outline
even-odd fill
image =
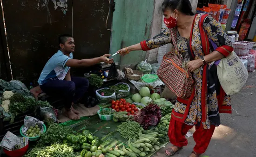
[[[207,151],[209,157],[256,157],[256,73],[249,78],[239,94],[232,95],[232,114],[221,114],[222,125],[216,127]],[[193,133],[194,128],[189,132]],[[195,145],[193,137],[189,144],[172,157],[188,157]],[[165,148],[152,157],[166,157]]]

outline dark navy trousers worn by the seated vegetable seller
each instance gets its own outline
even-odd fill
[[[71,108],[72,102],[78,103],[84,97],[88,87],[88,79],[84,77],[71,77],[71,81],[51,80],[40,85],[46,94],[64,100],[66,109]]]

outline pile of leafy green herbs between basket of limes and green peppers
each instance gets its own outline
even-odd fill
[[[47,131],[43,133],[38,141],[38,146],[47,146],[54,143],[61,143],[66,139],[67,135],[74,133],[74,131],[65,126],[60,126],[56,123],[50,123]]]

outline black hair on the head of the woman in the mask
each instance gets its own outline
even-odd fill
[[[175,9],[185,15],[195,15],[192,12],[192,6],[189,0],[164,0],[162,3],[162,11],[170,9],[174,11]]]

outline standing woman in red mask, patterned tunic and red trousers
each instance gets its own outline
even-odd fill
[[[165,153],[171,156],[186,146],[185,135],[195,126],[196,144],[189,157],[199,157],[206,151],[215,127],[221,124],[219,113],[231,113],[230,97],[220,85],[215,61],[227,57],[233,51],[232,44],[215,19],[207,14],[192,13],[189,0],[164,0],[162,11],[167,29],[118,52],[126,55],[134,50],[151,50],[168,43],[174,45],[173,52],[187,62],[194,86],[189,98],[177,98],[168,131],[173,146]],[[210,40],[218,46],[216,50]]]

